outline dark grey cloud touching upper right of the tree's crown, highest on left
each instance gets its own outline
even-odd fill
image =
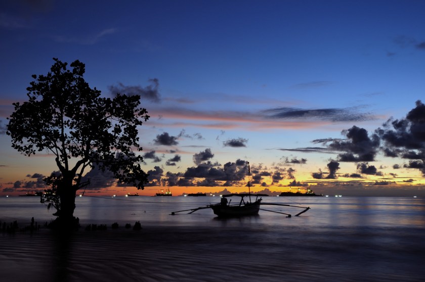
[[[151,85],[146,87],[142,87],[140,85],[136,86],[126,86],[121,82],[118,85],[108,86],[109,91],[115,95],[116,93],[127,94],[127,95],[140,95],[141,99],[146,99],[155,103],[159,103],[161,101],[158,87],[159,80],[157,78],[148,80]]]

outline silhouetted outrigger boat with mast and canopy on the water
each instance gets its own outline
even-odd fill
[[[248,163],[248,177],[249,177],[249,174],[250,174],[250,169],[249,169],[249,163]],[[249,178],[248,178],[248,192],[249,193],[244,193],[244,194],[223,195],[219,204],[212,204],[212,205],[207,205],[206,207],[199,207],[199,208],[189,209],[189,210],[175,211],[175,212],[172,212],[171,215],[176,215],[176,213],[186,212],[186,211],[188,211],[188,213],[193,213],[201,209],[212,209],[214,214],[216,214],[218,217],[240,217],[240,216],[248,216],[248,215],[258,215],[258,212],[260,210],[285,214],[287,215],[287,217],[291,217],[291,215],[288,213],[266,210],[266,209],[260,208],[260,206],[271,205],[271,206],[285,206],[285,207],[295,207],[295,208],[304,209],[303,211],[295,214],[295,216],[299,216],[300,214],[305,213],[306,211],[310,209],[310,207],[292,206],[292,205],[277,204],[277,203],[262,203],[261,196],[266,196],[266,195],[251,194]],[[232,200],[228,201],[227,198],[232,196],[241,197],[239,204],[230,204]],[[256,197],[256,200],[252,202],[251,196]],[[247,197],[246,200],[245,200],[245,197]]]

